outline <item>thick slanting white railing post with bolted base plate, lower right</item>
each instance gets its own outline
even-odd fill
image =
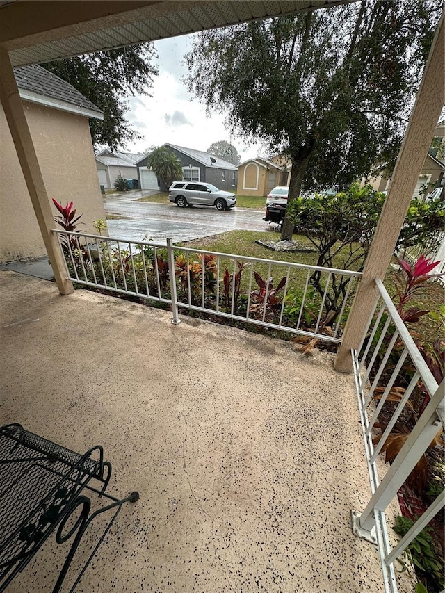
[[[374,510],[385,511],[396,496],[414,466],[428,449],[440,430],[445,407],[445,380],[437,387],[430,403],[414,426],[410,436],[398,453],[385,478],[375,490],[365,510],[359,515],[359,527],[371,532],[374,526]]]

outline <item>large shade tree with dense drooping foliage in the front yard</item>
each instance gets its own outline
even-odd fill
[[[200,33],[188,87],[291,161],[289,203],[347,188],[394,163],[441,10],[441,0],[364,0]],[[282,238],[292,231],[286,216]]]

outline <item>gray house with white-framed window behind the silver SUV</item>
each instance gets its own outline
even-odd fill
[[[206,181],[219,189],[236,191],[238,183],[238,167],[236,165],[201,150],[174,144],[164,144],[163,146],[170,148],[176,154],[177,159],[181,161],[184,181]],[[136,165],[138,166],[140,186],[143,189],[151,189],[146,186],[144,181],[147,172],[154,175],[151,170],[147,169],[147,156],[140,159]],[[161,187],[161,190],[165,191],[168,188]]]

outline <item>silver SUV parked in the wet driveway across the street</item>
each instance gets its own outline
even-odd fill
[[[168,190],[168,199],[174,202],[179,208],[185,206],[215,206],[217,210],[228,210],[236,204],[236,195],[223,191],[212,184],[188,183],[187,181],[175,181]]]

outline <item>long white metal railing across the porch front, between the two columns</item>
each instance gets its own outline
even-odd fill
[[[361,273],[159,243],[53,231],[84,286],[340,343]],[[171,279],[175,278],[175,282]],[[332,311],[332,312],[330,312]]]

